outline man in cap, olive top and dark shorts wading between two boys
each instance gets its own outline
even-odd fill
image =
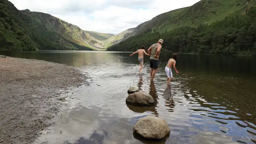
[[[154,43],[151,45],[148,49],[148,54],[150,55],[150,78],[151,81],[154,81],[154,77],[156,75],[157,69],[158,69],[158,58],[159,53],[162,48],[163,40],[159,39],[158,43]]]

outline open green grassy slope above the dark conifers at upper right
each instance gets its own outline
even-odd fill
[[[209,3],[210,2],[210,3]],[[165,32],[181,26],[211,24],[235,12],[242,12],[245,0],[201,0],[191,7],[167,13],[169,19],[157,25],[157,31]],[[239,6],[237,6],[240,4]]]

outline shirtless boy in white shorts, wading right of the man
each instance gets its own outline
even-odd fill
[[[172,58],[168,60],[168,63],[166,64],[165,71],[167,75],[167,86],[169,86],[170,81],[172,80],[172,66],[175,69],[176,73],[179,73],[175,67],[176,60],[178,58],[177,53],[172,54]]]

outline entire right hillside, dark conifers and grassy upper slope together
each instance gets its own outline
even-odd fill
[[[107,50],[135,51],[162,38],[162,49],[172,52],[253,55],[256,52],[255,4],[255,0],[201,0],[191,7],[155,17],[162,23],[155,21],[154,25],[145,26],[137,35]],[[168,21],[168,17],[172,18]]]

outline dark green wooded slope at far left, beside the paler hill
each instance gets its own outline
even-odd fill
[[[0,0],[0,50],[93,50],[71,37],[49,31],[42,23],[19,11],[8,0]]]

